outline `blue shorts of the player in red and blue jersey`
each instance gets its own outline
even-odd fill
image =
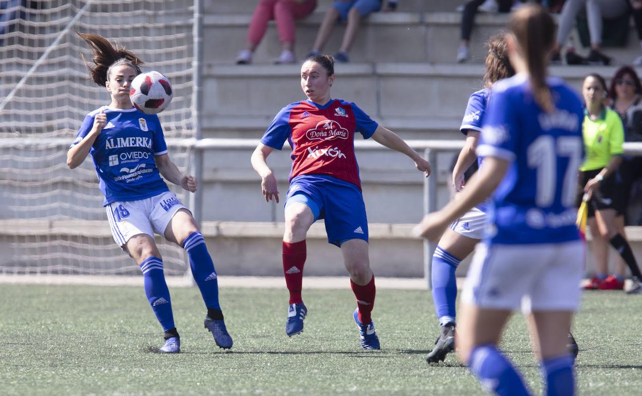
[[[290,182],[285,206],[293,202],[308,205],[315,221],[325,219],[328,243],[341,247],[349,239],[368,241],[363,195],[356,185],[332,176],[297,176]]]

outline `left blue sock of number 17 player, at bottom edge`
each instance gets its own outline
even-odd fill
[[[513,365],[493,345],[473,349],[469,366],[489,392],[499,396],[530,395]]]

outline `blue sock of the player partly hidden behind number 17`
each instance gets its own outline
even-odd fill
[[[455,270],[462,261],[439,246],[433,254],[432,282],[435,313],[440,325],[455,323],[455,300],[457,299],[457,279]]]

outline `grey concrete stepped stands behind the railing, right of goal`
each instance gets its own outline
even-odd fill
[[[457,129],[467,98],[482,87],[483,42],[507,21],[507,15],[478,15],[471,62],[455,64],[461,15],[453,10],[462,3],[400,0],[397,12],[372,15],[358,33],[351,52],[352,63],[336,65],[333,97],[354,101],[379,123],[406,139],[460,139]],[[299,58],[309,50],[329,4],[320,0],[317,11],[297,24]],[[304,99],[297,77],[299,65],[271,63],[280,51],[273,22],[254,64],[234,65],[237,51],[245,46],[247,24],[255,5],[256,0],[205,1],[203,137],[257,139],[281,107]],[[168,31],[175,29],[176,26]],[[189,29],[180,28],[186,32]],[[343,29],[344,26],[336,28],[327,52],[336,51]],[[605,49],[618,57],[619,64],[630,62],[639,53],[634,31],[630,34],[629,46]],[[587,73],[597,71],[608,77],[615,69],[557,66],[551,68],[551,74],[566,78],[579,88]],[[62,83],[65,76],[48,78]],[[201,180],[206,198],[203,230],[221,274],[279,275],[282,205],[263,201],[259,177],[250,166],[250,154],[247,149],[205,153]],[[410,234],[412,223],[422,216],[421,173],[413,168],[412,161],[386,148],[357,154],[371,223],[370,259],[374,270],[377,275],[421,276],[422,241]],[[438,156],[438,173],[433,175],[438,180],[438,206],[449,198],[447,184],[452,156],[451,153]],[[277,174],[283,197],[291,163],[288,153],[275,151],[268,163]],[[79,177],[77,173],[73,175]],[[80,177],[91,180],[93,176]],[[97,224],[87,227],[98,227]],[[53,232],[51,225],[41,226],[34,225],[30,232]],[[11,224],[0,227],[0,251],[6,250],[16,237],[11,227]],[[106,222],[100,227],[98,235],[91,237],[96,238],[96,243],[112,243],[108,229],[103,229]],[[56,232],[70,232],[69,229],[59,227]],[[642,234],[631,228],[629,237],[636,240],[634,248],[638,255],[642,254],[642,243],[638,242],[642,241]],[[341,275],[344,270],[340,251],[328,246],[324,238],[323,226],[315,225],[309,237],[306,274]],[[588,268],[592,265],[589,262]],[[460,273],[466,269],[464,263]]]

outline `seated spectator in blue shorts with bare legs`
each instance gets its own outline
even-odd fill
[[[397,9],[398,0],[387,0],[386,8],[384,11],[390,12]],[[381,10],[383,0],[337,0],[333,6],[327,10],[321,27],[317,33],[317,39],[312,47],[311,55],[319,55],[330,38],[330,34],[334,29],[337,21],[347,21],[345,26],[345,33],[343,33],[343,41],[339,51],[334,55],[334,60],[337,62],[349,62],[350,56],[348,55],[352,42],[356,37],[357,31],[361,24],[361,18],[370,15],[370,13]]]

